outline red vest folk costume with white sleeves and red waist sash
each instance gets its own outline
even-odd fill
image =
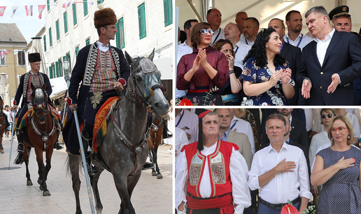
[[[238,149],[221,140],[201,151],[199,142],[184,146],[176,163],[176,208],[185,201],[183,213],[243,213],[251,204],[250,190],[246,160]]]

